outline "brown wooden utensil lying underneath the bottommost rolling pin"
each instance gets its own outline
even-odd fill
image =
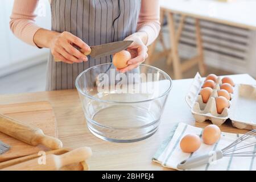
[[[61,154],[65,154],[65,153],[67,153],[71,150],[72,149],[70,149],[70,148],[61,148],[61,149],[57,149],[57,150],[47,151],[46,155],[49,155],[49,154],[61,155]],[[27,160],[31,160],[31,159],[35,159],[35,158],[39,158],[38,153],[28,155],[28,156],[23,156],[21,158],[7,160],[6,162],[0,163],[0,170],[2,168],[10,167],[10,166],[13,166],[15,164],[26,162]],[[89,169],[89,167],[88,167],[88,165],[86,164],[85,161],[82,161],[82,162],[79,162],[79,163],[73,163],[73,164],[70,164],[70,165],[67,165],[67,166],[64,166],[64,167],[60,168],[61,171],[65,171],[65,170],[67,170],[67,171],[86,171],[88,169]]]

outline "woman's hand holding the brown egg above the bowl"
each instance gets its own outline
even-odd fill
[[[131,53],[131,59],[127,62],[126,68],[118,69],[119,72],[125,73],[134,68],[137,68],[147,59],[147,46],[143,43],[140,36],[137,33],[131,34],[125,40],[133,40],[133,43],[127,47],[127,51]]]

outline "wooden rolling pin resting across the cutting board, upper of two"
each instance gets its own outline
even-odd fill
[[[0,114],[0,132],[32,146],[43,144],[51,149],[62,148],[59,139],[44,135],[38,127],[27,125],[3,114]]]

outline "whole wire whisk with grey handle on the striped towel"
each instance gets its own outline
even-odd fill
[[[254,139],[253,139],[254,138]],[[251,140],[250,140],[251,139]],[[238,144],[245,142],[241,146]],[[238,147],[237,147],[238,146]],[[245,148],[253,147],[253,150],[241,151]],[[241,137],[237,138],[233,143],[225,148],[216,151],[210,151],[208,154],[194,156],[177,165],[178,169],[191,169],[199,167],[203,164],[210,164],[215,160],[221,159],[225,156],[238,156],[238,157],[253,157],[256,156],[256,130],[251,130]]]

